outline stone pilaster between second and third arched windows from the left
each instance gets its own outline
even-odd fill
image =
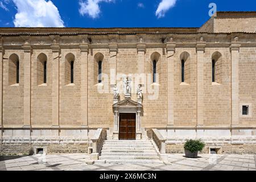
[[[52,49],[52,127],[59,127],[59,68],[60,68],[60,45],[53,40]]]

